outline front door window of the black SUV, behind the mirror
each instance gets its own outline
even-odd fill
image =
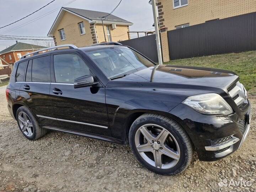
[[[76,78],[90,75],[87,64],[75,54],[53,56],[55,80],[59,83],[74,83]]]

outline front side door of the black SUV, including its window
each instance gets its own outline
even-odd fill
[[[92,75],[89,66],[75,53],[52,55],[50,95],[60,127],[111,136],[108,124],[105,88],[74,89],[74,80]]]

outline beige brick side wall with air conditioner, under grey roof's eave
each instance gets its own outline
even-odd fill
[[[110,26],[110,25],[108,25]],[[126,25],[116,25],[116,29],[111,30],[110,27],[110,34],[112,37],[112,41],[114,42],[118,42],[120,40],[128,40],[128,33],[127,31],[129,31],[129,26]],[[98,37],[98,42],[104,42],[105,38],[104,38],[104,33],[103,33],[103,27],[102,24],[96,24],[95,25],[96,31],[97,31],[97,37]],[[107,38],[107,27],[106,25],[104,25],[105,28],[105,34],[106,34],[106,39],[108,41]]]

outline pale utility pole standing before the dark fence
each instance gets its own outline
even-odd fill
[[[160,33],[159,33],[158,16],[157,16],[157,10],[156,10],[157,0],[151,0],[151,4],[152,4],[154,23],[155,23],[156,47],[157,47],[157,50],[158,50],[158,64],[162,65]]]

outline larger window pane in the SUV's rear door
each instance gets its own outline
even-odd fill
[[[32,62],[32,82],[48,82],[50,74],[50,57],[38,57]]]

